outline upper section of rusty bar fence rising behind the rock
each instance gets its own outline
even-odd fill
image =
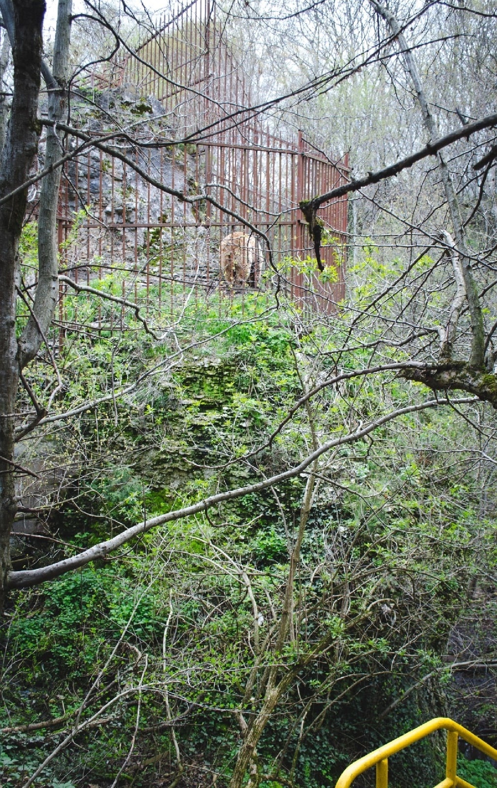
[[[250,77],[228,43],[229,17],[216,0],[193,0],[164,15],[134,53],[113,70],[135,95],[153,95],[164,121],[177,139],[218,135],[236,142],[258,126],[257,110],[250,110]],[[232,133],[230,133],[232,132]]]

